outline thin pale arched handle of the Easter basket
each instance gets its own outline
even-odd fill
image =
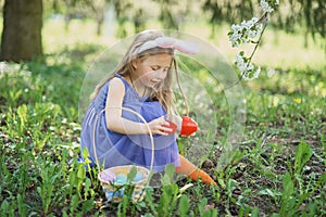
[[[130,113],[135,114],[137,117],[139,117],[141,119],[141,122],[145,124],[145,126],[147,127],[147,129],[149,131],[150,140],[151,140],[151,148],[152,148],[152,150],[151,150],[152,158],[151,158],[151,164],[150,164],[150,171],[151,171],[153,169],[153,164],[154,164],[154,149],[155,148],[154,148],[154,139],[153,139],[152,131],[151,131],[148,123],[146,122],[146,119],[138,112],[135,112],[134,110],[128,108],[128,107],[123,107],[123,106],[108,106],[108,107],[109,108],[121,108],[121,110],[130,112]],[[96,163],[97,163],[99,170],[100,170],[100,164],[99,164],[99,159],[98,159],[98,155],[97,155],[97,151],[96,151],[96,137],[95,136],[96,136],[96,127],[97,127],[99,117],[102,115],[103,112],[105,112],[105,108],[101,110],[100,113],[97,115],[96,122],[93,124],[93,129],[92,129],[92,149],[93,149],[93,154],[95,154]]]

